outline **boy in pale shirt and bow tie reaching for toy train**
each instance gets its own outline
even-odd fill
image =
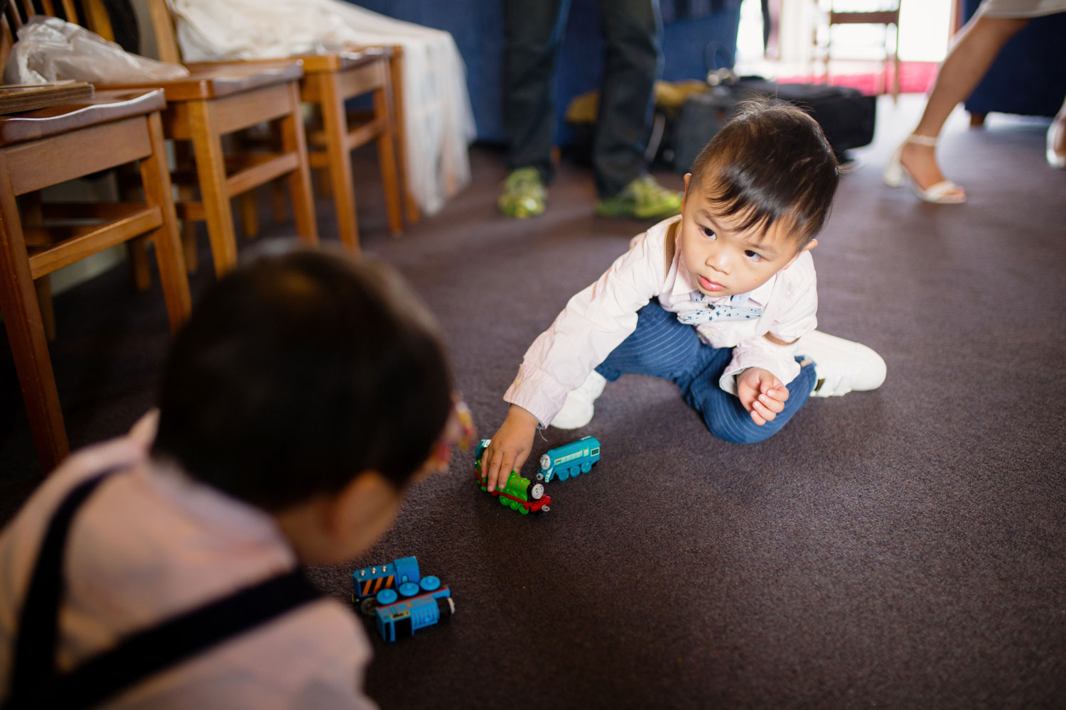
[[[488,489],[521,468],[537,427],[585,426],[626,373],[675,382],[711,433],[734,443],[779,431],[809,396],[881,386],[876,352],[814,330],[810,250],[838,180],[810,116],[745,106],[684,177],[681,215],[634,237],[530,346],[482,459]]]

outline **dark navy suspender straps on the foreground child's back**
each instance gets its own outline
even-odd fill
[[[52,516],[22,601],[11,694],[3,710],[92,707],[152,674],[322,597],[297,568],[132,633],[116,647],[60,675],[55,649],[66,539],[78,508],[110,473],[75,486]]]

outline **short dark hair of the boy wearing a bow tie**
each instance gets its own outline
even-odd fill
[[[692,164],[689,192],[702,189],[738,229],[788,220],[803,248],[821,231],[840,179],[821,127],[802,109],[772,99],[741,104]]]

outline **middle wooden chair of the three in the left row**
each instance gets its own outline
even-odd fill
[[[31,11],[55,15],[52,0],[12,2],[9,20],[16,29]],[[112,37],[102,0],[62,0],[62,16],[68,22],[99,30]],[[79,14],[80,11],[80,14]],[[167,42],[166,36],[162,42]],[[173,42],[173,35],[169,38]],[[204,67],[185,79],[123,84],[97,84],[98,89],[162,88],[166,109],[162,114],[163,135],[176,142],[179,156],[192,153],[195,171],[179,170],[174,182],[179,189],[177,214],[182,220],[206,220],[215,273],[225,274],[237,264],[237,240],[230,200],[277,178],[288,181],[296,233],[308,244],[318,244],[318,227],[307,162],[307,143],[300,112],[298,61],[231,64]],[[223,136],[264,121],[278,126],[281,149],[276,152],[233,152],[224,150]],[[189,146],[191,145],[191,150]],[[181,167],[181,166],[179,166]],[[192,199],[197,186],[199,200]],[[188,236],[190,231],[185,231]],[[187,254],[195,255],[187,245]],[[136,260],[140,263],[140,259]],[[140,279],[144,281],[144,279]]]

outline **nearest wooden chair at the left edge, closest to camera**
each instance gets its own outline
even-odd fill
[[[75,105],[0,116],[0,313],[44,472],[66,456],[68,444],[35,280],[143,235],[155,246],[171,330],[189,316],[160,118],[164,108],[159,89],[98,92]],[[44,204],[39,221],[19,212],[19,196],[134,161],[143,203]]]

